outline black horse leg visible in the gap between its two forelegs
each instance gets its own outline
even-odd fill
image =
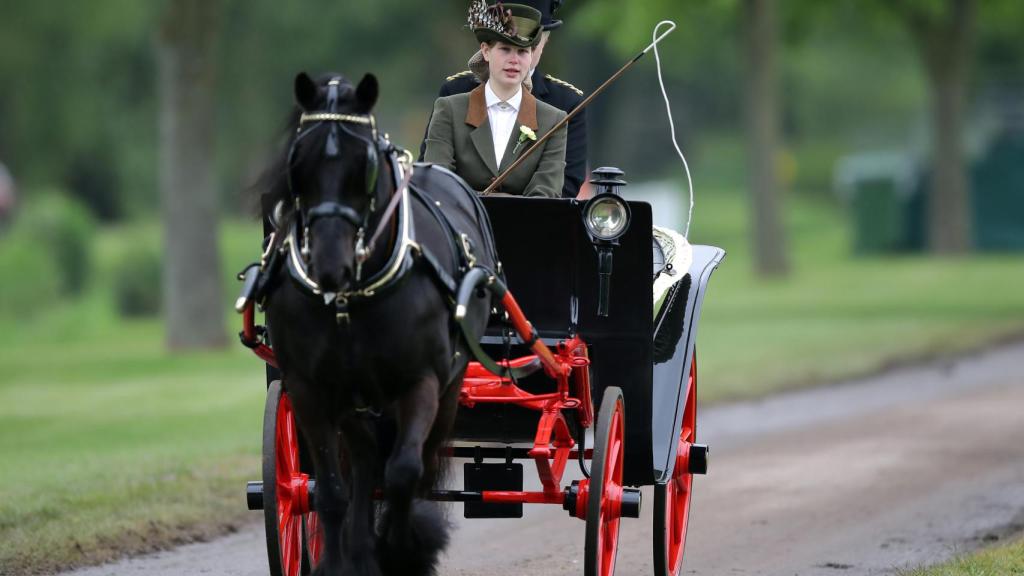
[[[344,573],[379,576],[374,533],[377,439],[373,424],[365,419],[350,418],[342,423],[342,438],[348,448],[352,489],[342,541],[346,560]]]

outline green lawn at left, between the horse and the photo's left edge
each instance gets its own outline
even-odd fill
[[[233,273],[258,249],[242,239],[258,234],[231,224],[224,237]],[[139,242],[158,242],[156,228],[109,231],[100,268]],[[166,352],[159,320],[118,320],[99,276],[85,299],[0,327],[3,574],[152,550],[252,518],[244,487],[259,470],[260,363],[241,346]]]

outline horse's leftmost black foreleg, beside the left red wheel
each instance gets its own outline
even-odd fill
[[[325,403],[317,402],[313,398],[315,395],[309,394],[310,386],[293,387],[296,422],[313,460],[316,515],[324,529],[324,550],[314,574],[336,574],[342,561],[342,523],[348,506],[348,486],[341,468],[341,437],[325,409]]]

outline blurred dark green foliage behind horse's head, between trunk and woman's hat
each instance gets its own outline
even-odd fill
[[[395,143],[417,148],[444,77],[476,49],[463,3],[227,0],[218,86],[217,158],[224,188],[248,190],[282,143],[298,72],[381,82],[377,117]],[[315,17],[312,17],[315,15]],[[382,39],[382,31],[401,34]],[[429,57],[423,54],[429,53]]]

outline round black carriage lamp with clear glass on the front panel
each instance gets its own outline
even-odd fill
[[[626,186],[618,168],[598,168],[590,182],[597,195],[583,209],[583,223],[597,250],[597,316],[607,317],[611,300],[611,255],[618,239],[630,229],[630,205],[618,196]]]

